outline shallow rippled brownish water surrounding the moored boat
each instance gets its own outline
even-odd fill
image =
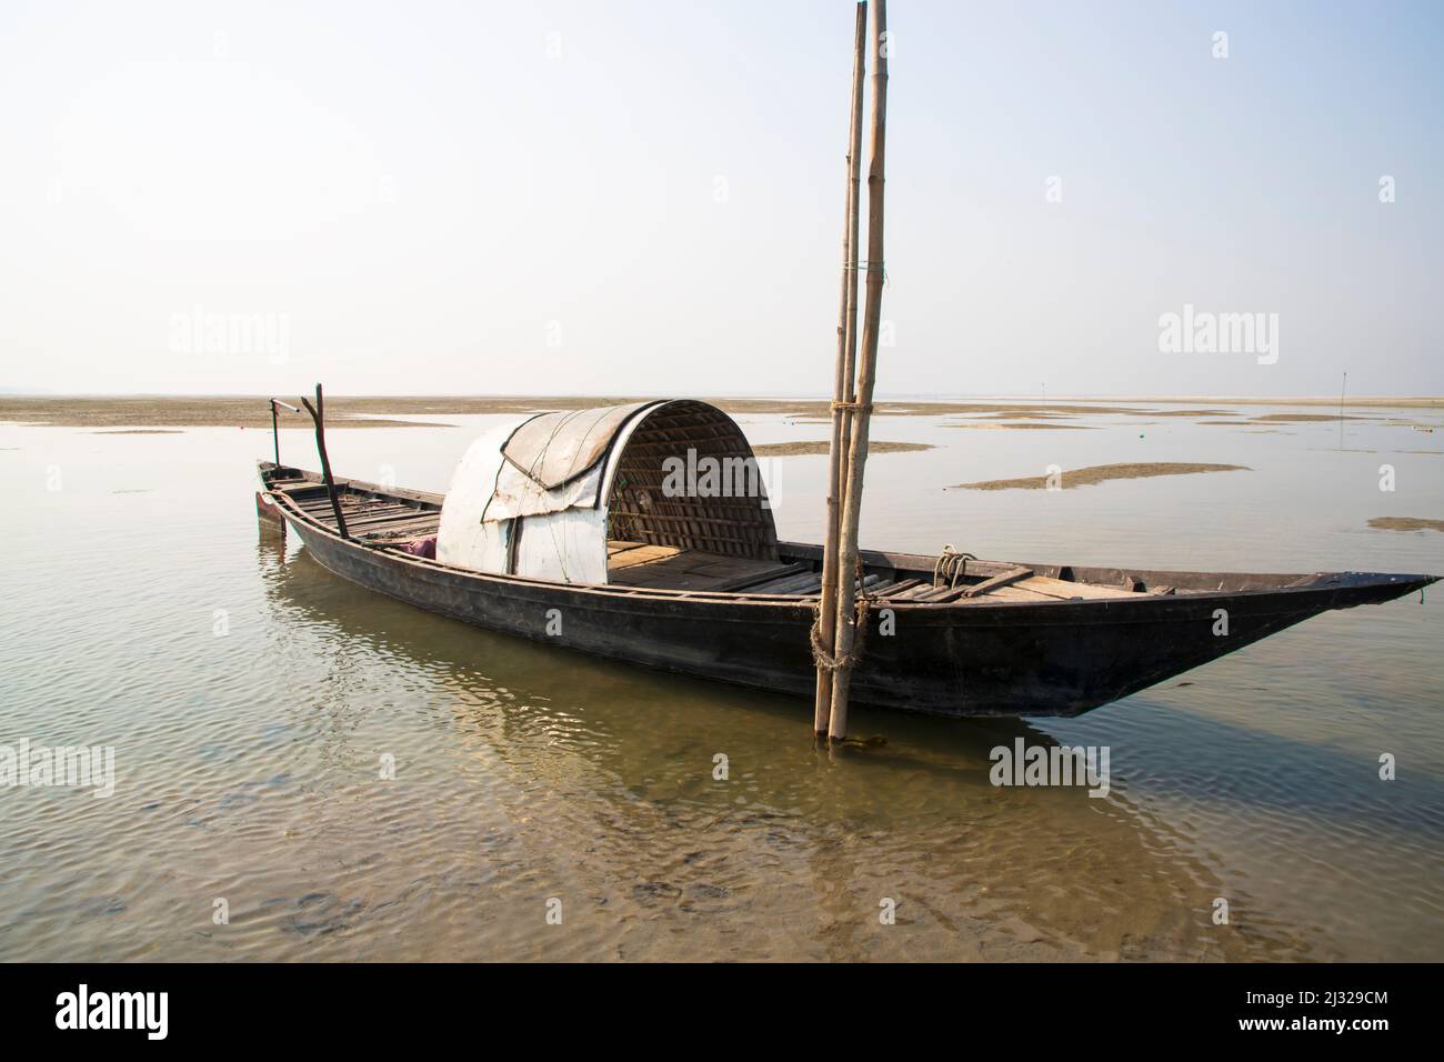
[[[1444,516],[1444,435],[1393,415],[1341,439],[1196,423],[1213,416],[881,418],[875,438],[939,448],[869,462],[864,543],[1441,572],[1444,535],[1367,527]],[[491,420],[458,419],[336,431],[332,462],[439,490]],[[754,442],[826,436],[742,422]],[[251,462],[269,452],[254,431],[0,426],[0,746],[117,757],[110,799],[0,789],[0,958],[1444,958],[1432,600],[1330,613],[1073,721],[855,711],[887,744],[829,754],[809,704],[478,631],[328,575],[257,533]],[[315,464],[302,432],[282,454]],[[773,464],[784,538],[817,539],[825,461]],[[1118,461],[1252,471],[944,490]],[[991,786],[989,750],[1017,737],[1109,746],[1109,795]]]

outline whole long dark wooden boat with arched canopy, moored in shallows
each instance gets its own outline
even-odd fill
[[[664,470],[679,461],[751,458],[731,418],[700,402],[656,402],[542,415],[508,428],[500,445],[488,439],[468,452],[446,496],[335,483],[347,536],[318,472],[260,462],[257,510],[284,522],[331,572],[419,608],[810,705],[822,548],[778,542],[762,491],[664,490]],[[461,501],[477,461],[495,471],[494,484],[474,491],[479,511]],[[478,517],[495,532],[482,553],[491,551],[497,571],[448,555],[443,509],[449,522],[469,527]],[[438,556],[419,555],[433,539]],[[593,548],[601,578],[586,555]],[[1080,715],[1318,613],[1392,601],[1437,579],[869,551],[861,559],[866,636],[852,699],[959,717]]]

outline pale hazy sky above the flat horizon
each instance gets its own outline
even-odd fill
[[[0,387],[825,393],[852,19],[4,0]],[[1444,4],[890,23],[879,392],[1444,393]]]

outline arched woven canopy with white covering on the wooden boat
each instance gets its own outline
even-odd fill
[[[609,542],[775,561],[767,491],[736,422],[690,399],[508,422],[458,465],[436,558],[604,584]]]

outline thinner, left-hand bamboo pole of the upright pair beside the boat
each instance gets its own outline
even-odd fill
[[[851,435],[855,360],[858,353],[858,212],[862,198],[862,81],[866,68],[868,3],[858,4],[852,43],[852,97],[848,124],[848,205],[842,227],[842,293],[838,306],[838,367],[833,380],[832,445],[827,449],[827,535],[822,553],[822,598],[817,640],[830,656],[838,624],[838,526],[846,484],[845,454]],[[839,403],[843,403],[839,406]],[[832,717],[832,670],[817,665],[813,733],[826,734]]]

